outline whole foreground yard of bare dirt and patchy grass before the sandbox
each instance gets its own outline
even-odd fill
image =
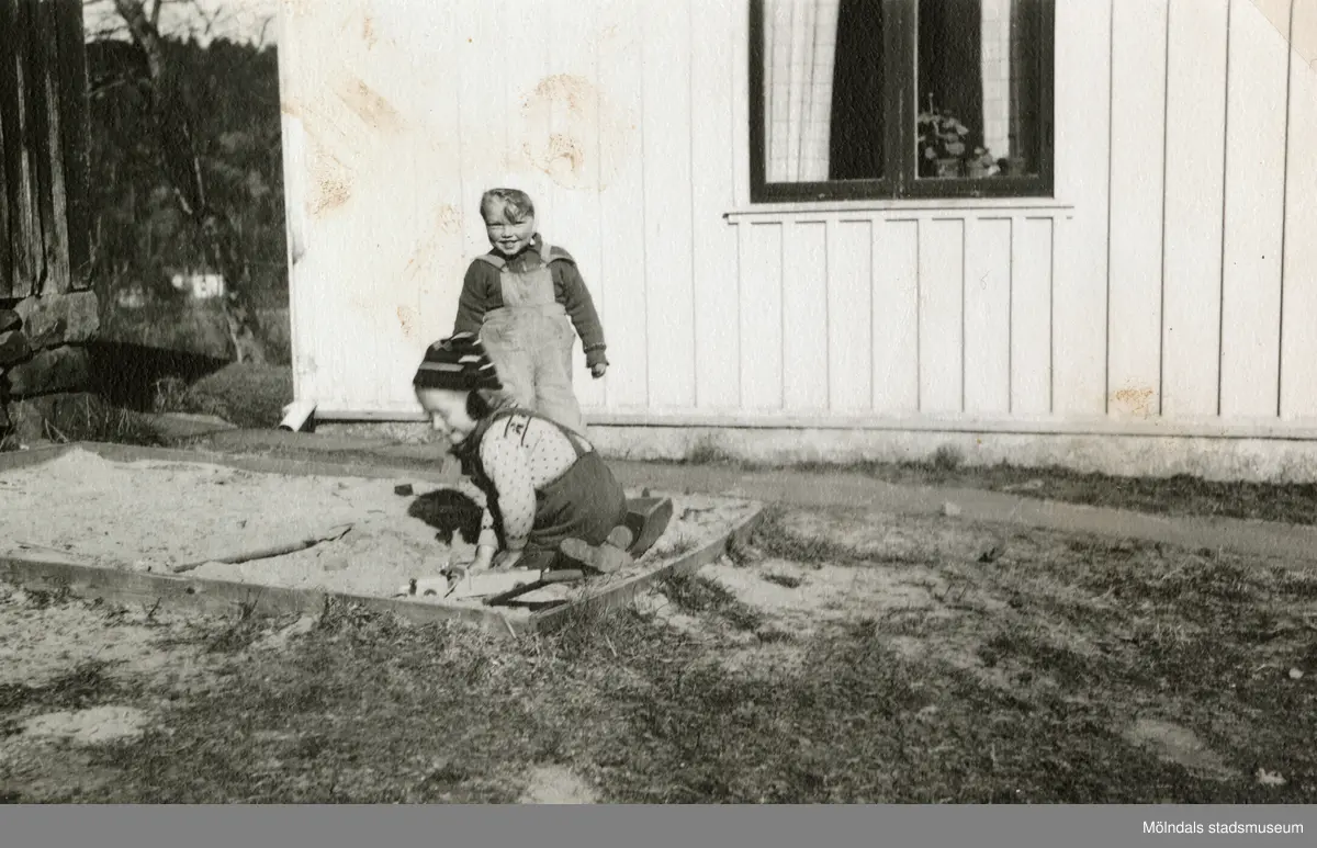
[[[781,511],[515,645],[7,591],[0,793],[113,802],[1317,801],[1317,568]]]

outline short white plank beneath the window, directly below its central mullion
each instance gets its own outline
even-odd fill
[[[919,223],[873,225],[873,411],[919,411]]]

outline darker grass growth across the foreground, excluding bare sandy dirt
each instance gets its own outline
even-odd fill
[[[996,602],[988,615],[856,602],[773,644],[757,633],[776,614],[706,575],[662,585],[698,633],[632,607],[508,647],[331,603],[286,650],[242,653],[255,631],[238,614],[198,635],[234,658],[216,683],[91,752],[117,778],[76,799],[498,803],[561,765],[632,803],[1317,801],[1317,574],[1056,533],[1006,545],[940,570]],[[755,653],[769,649],[799,662]],[[757,658],[727,665],[745,650]],[[1131,740],[1150,715],[1226,773]],[[1259,785],[1259,768],[1287,782]]]

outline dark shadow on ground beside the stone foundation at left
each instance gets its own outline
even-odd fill
[[[87,352],[90,388],[112,406],[136,412],[151,411],[159,381],[173,378],[191,384],[228,365],[227,359],[204,354],[120,341],[95,341]]]

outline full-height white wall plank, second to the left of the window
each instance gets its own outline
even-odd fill
[[[641,4],[644,18],[645,323],[649,404],[695,400],[690,207],[690,0]],[[699,68],[703,72],[703,68]]]

